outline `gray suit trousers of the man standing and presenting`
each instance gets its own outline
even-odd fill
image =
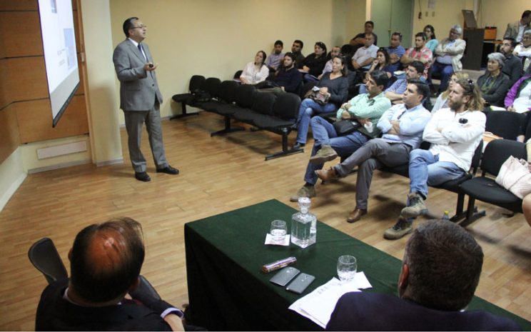
[[[153,161],[155,162],[156,168],[168,166],[164,145],[162,143],[161,111],[158,101],[148,111],[123,111],[123,114],[126,118],[129,157],[131,158],[131,164],[134,170],[136,172],[146,171],[146,159],[140,149],[144,122],[146,123],[149,145],[151,146],[151,153],[153,154]]]

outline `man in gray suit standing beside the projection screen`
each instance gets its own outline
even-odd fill
[[[146,38],[147,26],[138,17],[123,22],[122,41],[113,53],[114,69],[120,81],[120,108],[126,118],[129,156],[139,181],[151,181],[146,173],[146,159],[140,150],[142,127],[146,123],[149,145],[153,153],[158,173],[178,174],[176,168],[166,161],[162,143],[161,91],[158,90],[153,57],[148,45],[142,43]]]

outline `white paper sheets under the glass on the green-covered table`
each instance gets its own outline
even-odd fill
[[[299,298],[289,308],[325,328],[330,321],[335,303],[343,294],[372,287],[363,272],[356,273],[354,280],[348,283],[332,278],[307,296]]]

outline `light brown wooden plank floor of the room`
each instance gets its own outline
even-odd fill
[[[28,176],[0,213],[0,329],[34,329],[46,281],[31,266],[27,251],[41,237],[55,241],[69,268],[66,256],[81,228],[113,216],[135,218],[143,224],[146,239],[143,275],[163,298],[181,306],[188,301],[184,223],[270,198],[295,206],[288,200],[303,184],[310,146],[305,154],[264,161],[265,154],[280,149],[280,136],[241,131],[211,138],[211,131],[223,127],[222,120],[201,113],[163,121],[166,155],[181,170],[178,176],[155,173],[150,160],[151,182],[136,181],[123,130],[125,164],[82,165]],[[148,152],[146,137],[143,147]],[[407,237],[386,241],[382,233],[403,207],[408,179],[376,172],[369,213],[350,224],[345,218],[354,208],[355,178],[318,185],[313,213],[328,225],[402,258]],[[445,209],[453,211],[455,199],[452,193],[430,188],[428,206],[442,216]],[[521,214],[506,218],[501,208],[482,203],[479,207],[486,208],[487,216],[467,227],[485,252],[476,295],[531,320],[531,228]],[[358,268],[363,271],[363,266]]]

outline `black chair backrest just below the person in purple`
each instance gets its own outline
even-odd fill
[[[504,139],[516,140],[520,135],[522,124],[525,120],[524,114],[508,111],[489,111],[485,114],[487,122],[485,131],[503,137]]]

